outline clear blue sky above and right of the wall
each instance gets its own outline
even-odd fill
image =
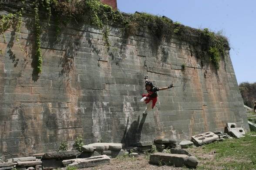
[[[165,15],[194,28],[223,30],[237,82],[256,82],[256,0],[117,0],[126,13]]]

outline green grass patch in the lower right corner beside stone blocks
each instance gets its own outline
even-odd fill
[[[223,170],[253,170],[256,169],[256,137],[251,137],[251,132],[246,137],[239,139],[214,142],[202,147],[205,153],[216,151],[214,161],[205,161],[199,164],[198,170],[214,170],[223,167]],[[199,158],[202,160],[202,158]]]

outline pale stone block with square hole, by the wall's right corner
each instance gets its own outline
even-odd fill
[[[243,127],[237,127],[236,123],[226,123],[225,132],[232,137],[240,138],[245,137],[245,131]]]

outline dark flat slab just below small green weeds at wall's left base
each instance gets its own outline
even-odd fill
[[[59,152],[48,152],[45,153],[43,159],[54,159],[54,158],[67,158],[67,157],[76,157],[81,154],[77,150],[67,150],[67,151],[59,151]]]

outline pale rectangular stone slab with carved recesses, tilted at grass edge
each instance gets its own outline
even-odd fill
[[[194,142],[194,144],[202,145],[211,143],[212,141],[216,141],[217,139],[219,139],[219,136],[209,131],[192,136],[191,141]]]

